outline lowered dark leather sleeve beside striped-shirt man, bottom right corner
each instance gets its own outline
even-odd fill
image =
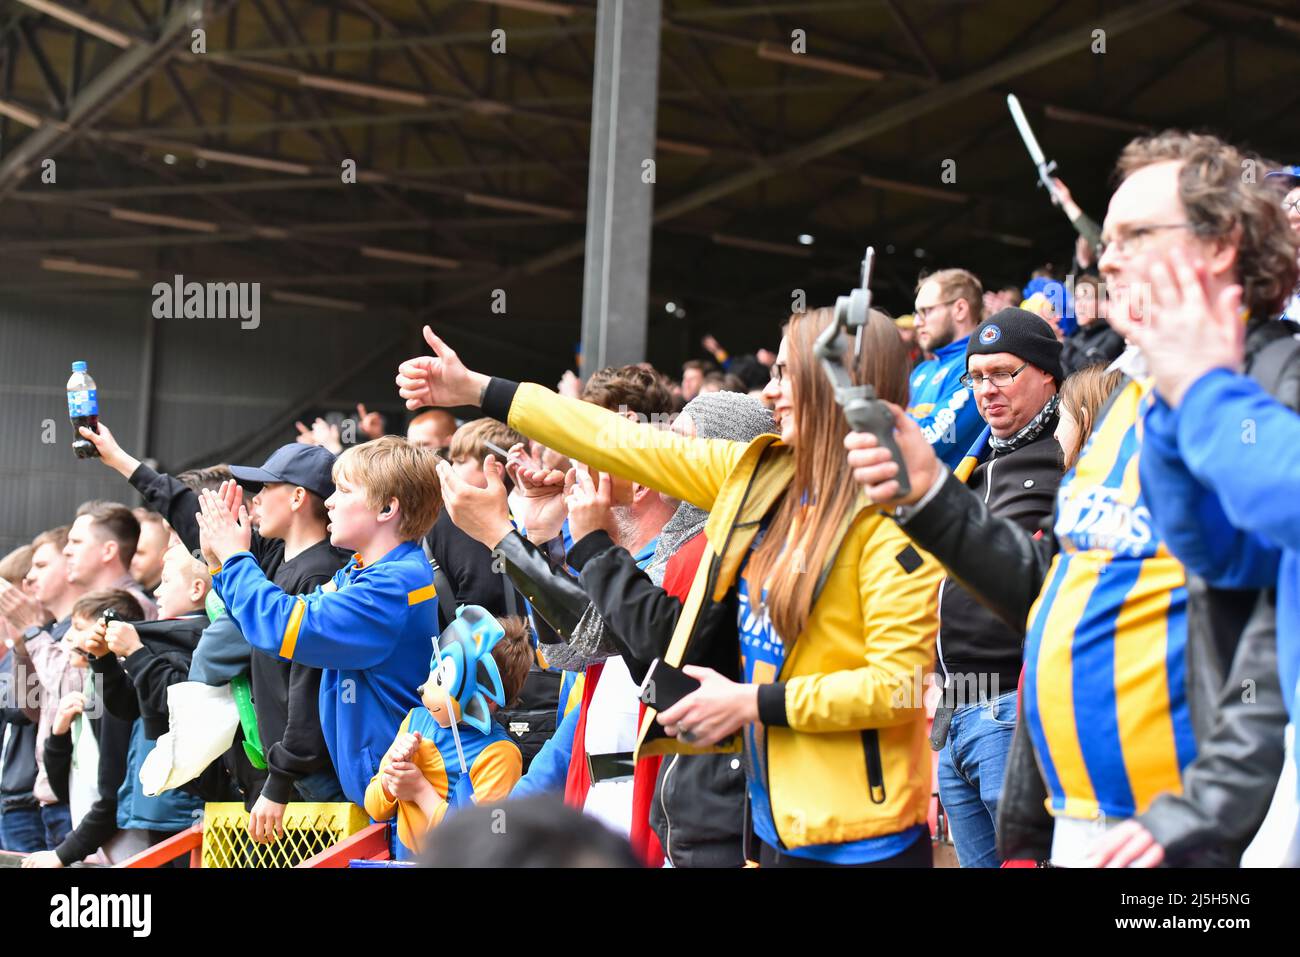
[[[1286,763],[1287,709],[1278,676],[1277,615],[1261,596],[1238,642],[1223,683],[1214,727],[1183,771],[1180,794],[1161,794],[1138,815],[1169,863],[1226,853],[1205,863],[1239,866],[1264,823]]]

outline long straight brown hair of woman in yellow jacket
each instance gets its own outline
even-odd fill
[[[831,540],[858,498],[844,451],[849,424],[812,352],[816,337],[832,320],[832,309],[820,308],[790,316],[785,326],[786,374],[797,436],[794,478],[745,571],[750,603],[766,606],[786,648],[807,624]],[[845,342],[846,359],[852,361],[853,342]],[[853,382],[870,382],[880,398],[904,406],[909,368],[907,350],[894,324],[872,309],[862,330],[862,356],[857,368],[849,371]]]

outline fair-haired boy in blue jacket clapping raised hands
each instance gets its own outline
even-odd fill
[[[438,635],[433,570],[419,544],[442,506],[436,464],[395,436],[338,456],[325,501],[330,542],[355,554],[308,596],[266,580],[248,551],[238,486],[200,497],[200,547],[248,644],[322,668],[321,731],[343,793],[359,805],[402,719],[420,705],[415,688]]]

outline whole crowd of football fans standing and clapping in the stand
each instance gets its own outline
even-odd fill
[[[359,406],[260,467],[82,429],[144,505],[0,560],[0,846],[350,801],[438,865],[924,867],[937,780],[962,866],[1238,865],[1295,827],[1300,676],[1300,169],[1251,160],[1136,139],[1101,226],[1060,183],[1065,282],[872,309],[897,459],[828,308],[555,391],[425,329],[404,437]]]

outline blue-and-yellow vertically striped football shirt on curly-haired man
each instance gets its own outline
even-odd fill
[[[1187,576],[1138,481],[1149,393],[1127,382],[1062,480],[1061,550],[1030,610],[1023,709],[1052,814],[1140,814],[1196,755]]]

